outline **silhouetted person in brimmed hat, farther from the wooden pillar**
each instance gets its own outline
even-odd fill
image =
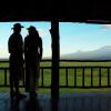
[[[13,33],[10,36],[8,41],[8,50],[10,53],[10,95],[17,98],[24,98],[19,91],[19,81],[23,75],[23,40],[20,34],[20,23],[13,24]]]

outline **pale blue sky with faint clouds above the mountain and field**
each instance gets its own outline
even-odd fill
[[[0,22],[0,58],[9,58],[8,39],[13,32],[11,28],[17,22]],[[34,26],[43,42],[43,57],[51,57],[50,22],[19,22],[23,39],[28,34],[27,28]],[[79,22],[60,22],[60,54],[77,51],[92,51],[111,46],[111,24],[92,24]]]

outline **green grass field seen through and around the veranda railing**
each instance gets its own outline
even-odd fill
[[[51,62],[41,62],[41,67],[51,67]],[[60,62],[60,67],[90,67],[90,65],[99,65],[99,67],[110,67],[111,62]],[[0,68],[8,68],[8,63],[0,63]],[[4,83],[4,71],[0,70],[0,84]],[[43,82],[44,85],[51,84],[51,70],[46,69],[43,70]],[[91,69],[84,70],[84,85],[90,87],[91,85]],[[7,82],[9,83],[9,71],[7,71]],[[107,69],[103,68],[101,70],[101,85],[108,85],[108,74]],[[111,77],[111,69],[110,69],[110,77]],[[111,81],[111,78],[110,78]],[[41,75],[39,79],[39,84],[41,85]],[[22,84],[22,82],[21,82]],[[59,78],[59,84],[65,85],[65,69],[60,69],[60,78]],[[74,69],[68,69],[68,84],[70,87],[74,85]],[[111,84],[111,83],[110,83]],[[82,69],[77,69],[77,85],[82,85]],[[93,69],[93,85],[99,85],[99,68]],[[21,89],[22,90],[22,89]],[[9,91],[9,88],[1,88],[0,91]],[[50,92],[50,89],[40,89],[40,92]],[[109,88],[102,88],[102,89],[60,89],[60,92],[74,92],[74,91],[111,91]]]

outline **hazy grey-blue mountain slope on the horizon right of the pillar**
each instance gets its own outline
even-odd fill
[[[78,51],[61,56],[60,58],[69,60],[111,60],[111,46],[105,46],[93,51]]]

